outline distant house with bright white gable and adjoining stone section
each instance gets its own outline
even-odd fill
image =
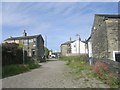
[[[77,56],[80,54],[87,54],[85,41],[74,40],[61,44],[62,56]]]

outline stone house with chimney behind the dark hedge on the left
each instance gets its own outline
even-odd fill
[[[9,37],[4,40],[6,43],[17,43],[23,47],[23,50],[27,51],[27,55],[30,57],[36,56],[41,61],[44,61],[44,40],[41,35],[27,36],[24,30],[21,37]]]

